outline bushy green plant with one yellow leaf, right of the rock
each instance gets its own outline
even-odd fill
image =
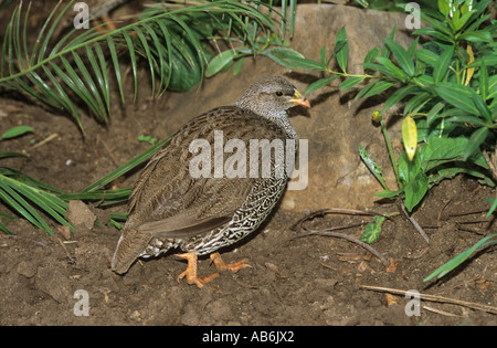
[[[292,68],[329,75],[309,85],[305,94],[337,78],[342,78],[340,91],[369,81],[356,99],[393,91],[373,118],[377,117],[383,131],[398,188],[388,188],[381,166],[363,148],[359,152],[384,189],[378,196],[402,199],[402,207],[410,212],[434,184],[458,173],[470,175],[491,187],[497,183],[497,22],[489,20],[490,2],[438,0],[437,11],[422,8],[422,20],[431,27],[414,31],[417,38],[408,49],[394,41],[393,29],[390,36],[383,39],[382,48],[373,48],[366,55],[362,66],[367,74],[347,73],[345,29],[337,34],[331,55],[327,56],[322,48],[317,61],[292,56],[284,61],[283,65]],[[430,38],[421,49],[420,35]],[[332,68],[334,63],[340,71]],[[400,102],[404,102],[402,140],[405,151],[395,157],[381,114]],[[497,209],[497,198],[489,202],[487,217]],[[374,224],[370,230],[378,231]],[[427,236],[425,239],[427,241]],[[442,268],[452,270],[476,249],[489,243],[495,241],[480,241]],[[441,273],[444,274],[446,272]]]

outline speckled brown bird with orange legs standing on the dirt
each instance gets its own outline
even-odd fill
[[[288,176],[277,175],[276,167],[282,167],[278,156],[283,155],[276,150],[271,152],[274,154],[269,159],[272,170],[264,175],[263,156],[255,148],[252,152],[257,154],[251,157],[250,141],[281,139],[285,144],[287,139],[297,139],[287,115],[287,109],[296,105],[310,107],[288,81],[267,77],[253,84],[233,106],[216,107],[183,125],[150,159],[135,183],[128,202],[128,221],[112,259],[112,268],[123,274],[138,257],[179,249],[186,253],[178,256],[188,260],[187,271],[179,278],[186,276],[189,284],[202,287],[219,274],[199,278],[198,255],[213,253],[211,260],[218,270],[236,272],[248,266],[247,260],[225,264],[215,251],[255,231],[282,197]],[[220,146],[220,135],[221,152],[215,149]],[[200,148],[192,144],[209,146],[209,151],[203,154],[213,162],[208,175],[195,157]],[[243,145],[246,145],[245,157],[226,154],[228,148],[235,152]],[[234,168],[237,175],[224,170],[220,177],[215,167],[220,160],[221,170]],[[234,166],[235,162],[241,167]],[[257,168],[252,172],[253,166]],[[204,175],[199,177],[192,168],[200,168]],[[243,169],[246,176],[240,175]]]

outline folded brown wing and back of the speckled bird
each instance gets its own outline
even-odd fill
[[[223,113],[228,119],[223,118]],[[267,127],[266,123],[261,117],[247,117],[239,108],[223,107],[183,126],[151,158],[133,189],[128,212],[136,225],[131,228],[149,235],[184,238],[212,231],[229,222],[257,179],[193,178],[189,164],[194,155],[187,150],[188,144],[204,138],[212,145],[214,130],[220,129],[224,133],[224,144],[232,138],[231,135],[248,141],[251,134],[253,136]],[[244,131],[240,133],[240,129]],[[275,127],[265,136],[271,139],[284,137],[284,134]],[[213,159],[214,155],[211,155]],[[224,154],[224,157],[230,157],[230,154]]]

